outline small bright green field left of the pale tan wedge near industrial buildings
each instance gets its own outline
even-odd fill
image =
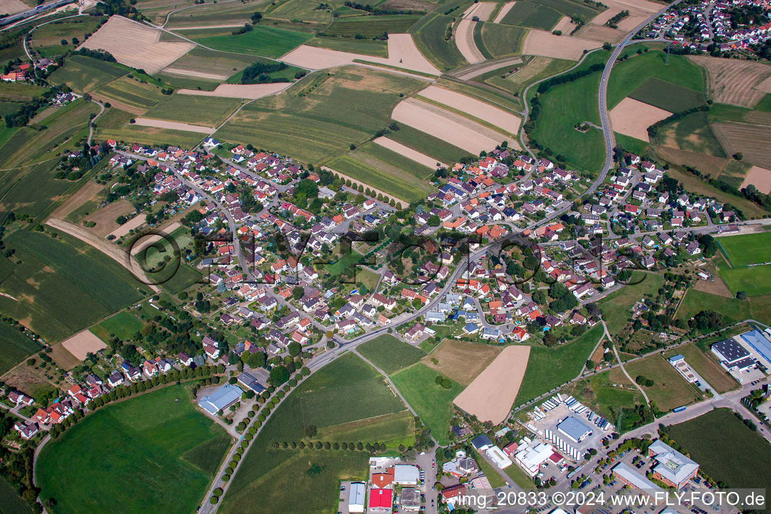
[[[423,424],[431,429],[436,442],[447,445],[449,422],[453,418],[453,400],[463,391],[463,386],[451,380],[453,387],[445,389],[436,385],[436,375],[436,371],[418,362],[392,375],[391,381],[418,413]]]

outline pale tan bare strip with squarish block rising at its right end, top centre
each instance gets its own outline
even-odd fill
[[[281,60],[288,64],[300,66],[301,68],[326,69],[354,64],[354,59],[361,59],[363,61],[385,64],[387,66],[396,66],[397,68],[412,69],[416,72],[439,75],[439,70],[434,68],[434,66],[423,57],[423,54],[419,52],[415,42],[412,41],[412,35],[389,34],[388,55],[389,56],[386,59],[384,57],[373,57],[372,55],[338,52],[337,50],[300,45],[298,48],[281,57]]]

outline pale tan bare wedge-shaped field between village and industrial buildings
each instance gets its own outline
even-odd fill
[[[507,346],[500,355],[463,389],[454,403],[481,422],[497,425],[506,419],[520,391],[530,358],[529,346]]]

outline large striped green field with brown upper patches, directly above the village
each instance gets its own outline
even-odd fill
[[[399,93],[408,96],[423,87],[418,79],[348,66],[304,96],[295,96],[311,79],[244,106],[215,137],[320,163],[388,126]]]

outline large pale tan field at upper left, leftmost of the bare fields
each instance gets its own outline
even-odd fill
[[[161,42],[160,35],[160,30],[150,29],[123,16],[112,16],[78,48],[106,50],[121,64],[144,69],[152,75],[190,52],[195,46],[194,43],[181,40]]]

